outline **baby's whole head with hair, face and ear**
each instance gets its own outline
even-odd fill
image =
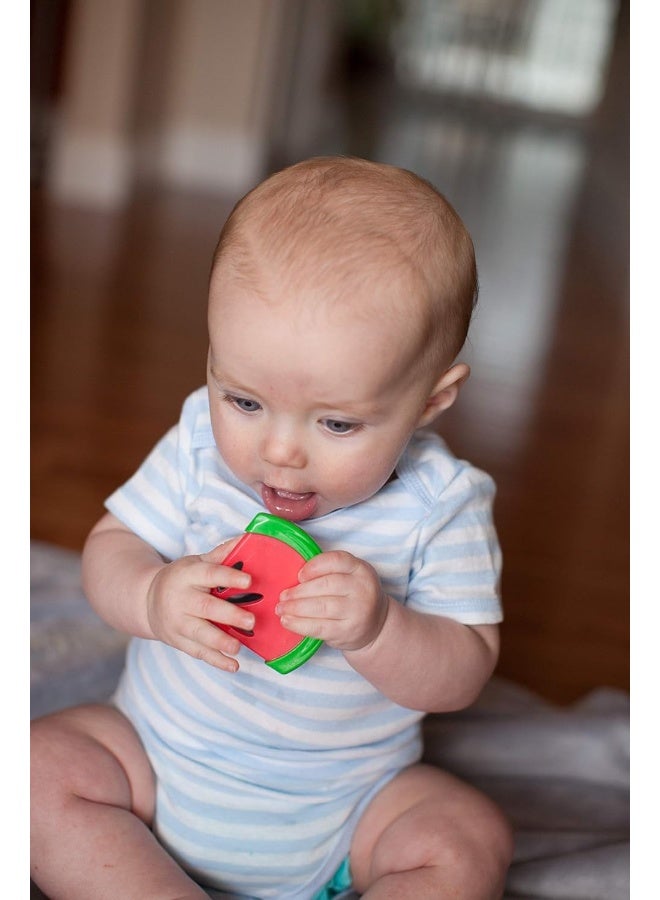
[[[234,208],[209,291],[213,431],[290,519],[367,499],[449,407],[477,291],[470,237],[403,169],[321,158]]]

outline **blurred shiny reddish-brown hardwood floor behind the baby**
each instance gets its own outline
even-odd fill
[[[473,375],[439,428],[499,486],[499,671],[559,702],[628,686],[625,65],[586,130],[462,119],[450,147],[407,105],[372,146],[446,189],[475,237]],[[80,549],[202,383],[208,264],[235,199],[143,188],[102,213],[34,192],[35,539]]]

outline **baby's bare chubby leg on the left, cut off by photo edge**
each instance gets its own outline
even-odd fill
[[[81,706],[32,725],[32,865],[51,900],[207,895],[154,838],[154,776],[116,709]]]

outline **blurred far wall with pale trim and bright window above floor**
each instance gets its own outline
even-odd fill
[[[35,174],[63,199],[107,204],[136,179],[234,191],[290,157],[410,155],[419,127],[401,133],[402,107],[413,97],[436,112],[471,103],[473,127],[474,105],[483,113],[489,101],[500,117],[506,107],[528,124],[554,113],[579,125],[602,100],[622,15],[618,0],[31,8]]]

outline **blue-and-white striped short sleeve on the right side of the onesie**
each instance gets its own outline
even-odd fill
[[[502,555],[493,522],[495,484],[464,466],[421,524],[408,606],[465,624],[502,620]]]

